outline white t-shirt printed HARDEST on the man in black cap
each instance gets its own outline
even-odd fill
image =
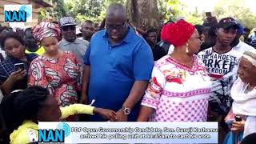
[[[226,114],[230,110],[232,99],[230,89],[237,79],[238,62],[242,53],[231,49],[229,52],[219,54],[212,47],[202,50],[198,57],[206,65],[212,87],[210,94],[210,108],[218,114]]]

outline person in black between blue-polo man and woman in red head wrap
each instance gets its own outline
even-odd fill
[[[150,29],[146,32],[146,42],[151,47],[154,56],[154,61],[157,61],[158,59],[162,58],[167,54],[162,47],[157,45],[157,35],[157,30],[155,29]]]

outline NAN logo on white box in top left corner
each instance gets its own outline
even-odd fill
[[[32,5],[5,5],[5,22],[32,22]]]

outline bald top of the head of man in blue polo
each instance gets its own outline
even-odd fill
[[[113,3],[106,9],[106,18],[123,18],[127,19],[126,9],[118,3]]]

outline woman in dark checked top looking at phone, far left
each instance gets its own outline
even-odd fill
[[[25,42],[17,33],[10,31],[1,40],[6,51],[6,60],[0,63],[0,88],[4,95],[12,90],[27,87],[27,71],[37,54],[25,54]]]

